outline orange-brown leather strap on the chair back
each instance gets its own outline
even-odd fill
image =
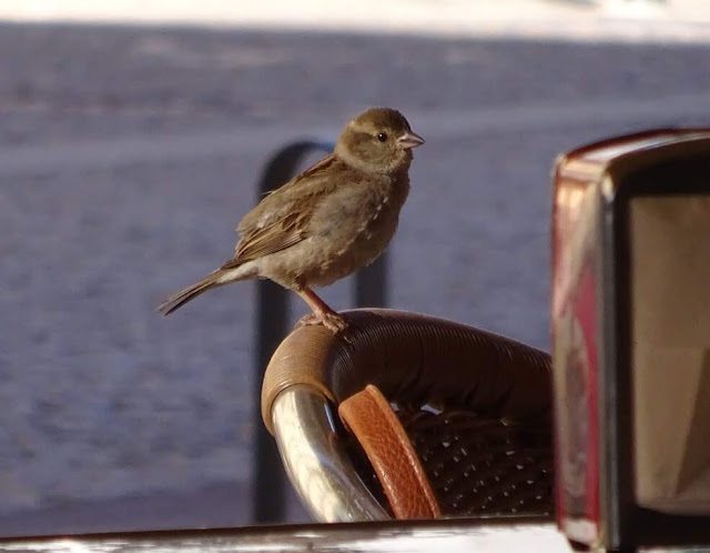
[[[365,450],[397,519],[438,519],[442,511],[412,442],[389,402],[374,385],[338,406]]]

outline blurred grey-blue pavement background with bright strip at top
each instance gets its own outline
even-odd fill
[[[253,522],[255,285],[153,310],[232,254],[280,147],[402,110],[427,143],[389,305],[548,348],[556,155],[710,123],[704,0],[0,0],[0,535]],[[324,296],[352,306],[352,282]]]

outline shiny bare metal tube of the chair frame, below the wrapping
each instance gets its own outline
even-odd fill
[[[292,484],[321,522],[389,519],[362,482],[344,450],[325,396],[298,384],[278,394],[272,406],[274,434]]]

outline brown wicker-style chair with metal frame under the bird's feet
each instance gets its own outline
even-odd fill
[[[551,515],[548,354],[432,316],[343,314],[341,335],[292,332],[262,392],[316,520]]]

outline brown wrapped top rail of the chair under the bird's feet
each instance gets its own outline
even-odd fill
[[[274,353],[262,389],[262,415],[293,384],[313,385],[336,404],[376,385],[395,402],[443,403],[488,416],[549,412],[547,353],[465,324],[394,310],[342,312],[347,330],[292,332]]]

